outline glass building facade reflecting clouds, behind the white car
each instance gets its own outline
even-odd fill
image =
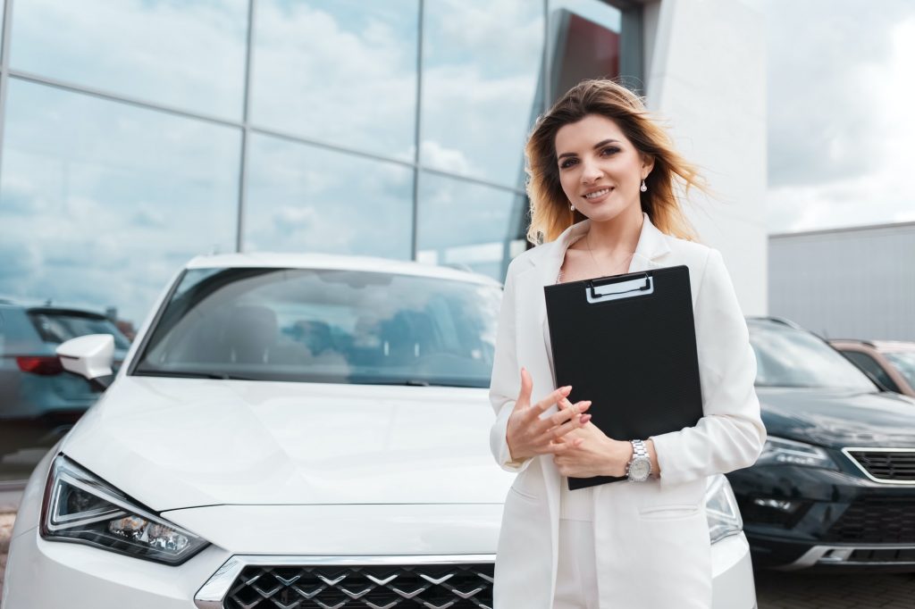
[[[634,0],[0,4],[0,298],[127,326],[211,252],[501,280],[537,115],[642,77]]]

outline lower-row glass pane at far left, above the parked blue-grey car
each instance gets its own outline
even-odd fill
[[[0,294],[138,324],[188,258],[234,250],[239,130],[15,78],[6,104]]]

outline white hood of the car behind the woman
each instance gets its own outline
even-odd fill
[[[63,453],[156,511],[501,503],[480,389],[118,379]]]

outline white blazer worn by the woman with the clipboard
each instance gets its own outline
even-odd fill
[[[533,379],[532,403],[556,389],[544,338],[544,285],[555,283],[568,244],[588,224],[579,222],[518,256],[505,281],[490,384],[496,411],[490,447],[499,465],[518,475],[502,516],[495,609],[547,609],[553,603],[561,476],[552,455],[512,462],[505,430],[522,367]],[[705,479],[752,465],[766,438],[753,388],[756,358],[721,254],[663,234],[644,215],[629,272],[679,264],[689,267],[693,288],[705,415],[694,427],[653,437],[660,479],[595,487],[601,609],[711,605]],[[607,377],[613,378],[613,370]]]

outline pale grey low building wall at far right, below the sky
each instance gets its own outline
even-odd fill
[[[827,338],[915,340],[915,222],[772,235],[770,313]]]

